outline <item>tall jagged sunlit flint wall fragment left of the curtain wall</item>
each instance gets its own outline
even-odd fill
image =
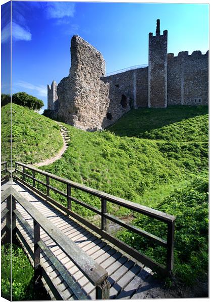
[[[79,36],[71,40],[71,68],[58,85],[60,119],[75,127],[99,129],[100,77],[105,62],[99,51]]]

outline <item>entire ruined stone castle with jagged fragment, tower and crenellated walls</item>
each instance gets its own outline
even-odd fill
[[[48,110],[58,120],[94,131],[115,123],[132,108],[208,104],[208,51],[167,54],[168,31],[149,33],[148,66],[105,76],[99,51],[79,36],[71,40],[68,77],[48,90]]]

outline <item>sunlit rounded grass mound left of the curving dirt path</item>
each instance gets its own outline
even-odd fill
[[[54,156],[63,146],[60,128],[33,110],[13,104],[13,161],[34,164]],[[10,160],[11,105],[2,107],[2,161]]]

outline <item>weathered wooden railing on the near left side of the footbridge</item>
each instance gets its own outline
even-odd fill
[[[41,251],[48,257],[55,268],[60,272],[63,279],[71,288],[76,299],[86,299],[85,294],[81,291],[79,285],[74,282],[72,277],[68,274],[61,262],[50,251],[46,244],[40,238],[40,228],[62,249],[62,251],[70,258],[71,261],[79,268],[79,270],[87,277],[87,279],[95,286],[96,299],[109,299],[110,283],[107,280],[108,272],[103,269],[91,256],[86,254],[76,243],[57,228],[48,218],[41,215],[39,210],[36,209],[29,201],[27,201],[19,192],[14,188],[8,188],[2,194],[2,202],[7,200],[7,207],[2,212],[2,218],[6,215],[6,233],[9,238],[11,235],[15,237],[17,234],[22,241],[24,247],[28,251],[34,262],[34,279],[36,282],[43,276],[46,283],[54,291],[57,299],[63,299],[60,290],[57,289],[55,284],[45,272],[42,262],[40,261]],[[26,212],[33,218],[34,228],[24,219],[22,214],[16,209],[16,202],[18,202]],[[16,227],[16,217],[24,225],[28,233],[33,238],[34,248],[31,249],[28,242],[20,230]],[[5,232],[4,231],[4,232]],[[11,234],[12,233],[12,234]]]

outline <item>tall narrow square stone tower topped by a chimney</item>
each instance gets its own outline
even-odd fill
[[[157,19],[156,35],[149,33],[148,107],[167,107],[167,36],[160,31]]]

